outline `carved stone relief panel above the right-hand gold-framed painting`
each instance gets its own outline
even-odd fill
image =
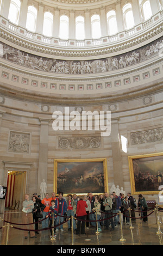
[[[157,142],[163,140],[163,128],[149,129],[146,131],[131,132],[131,145]]]

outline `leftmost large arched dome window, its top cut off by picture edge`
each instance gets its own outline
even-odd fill
[[[21,7],[20,0],[11,0],[8,19],[11,22],[15,23],[16,25],[18,24],[18,18],[19,18],[19,14],[20,14],[20,7]]]

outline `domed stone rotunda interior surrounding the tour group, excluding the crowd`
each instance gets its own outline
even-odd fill
[[[162,17],[162,0],[0,0],[1,245],[163,245]],[[43,199],[43,183],[49,197],[131,193],[136,219],[84,235],[65,222],[54,239],[40,221],[24,239],[25,195]]]

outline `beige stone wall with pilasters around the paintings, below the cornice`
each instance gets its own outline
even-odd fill
[[[152,100],[147,101],[147,97]],[[102,137],[101,131],[54,131],[51,110],[61,110],[61,106],[51,105],[49,112],[42,112],[37,102],[12,96],[4,96],[4,99],[0,113],[0,184],[7,185],[9,169],[27,170],[26,192],[30,196],[35,192],[40,194],[43,179],[47,182],[47,192],[53,192],[54,159],[102,157],[107,160],[109,190],[115,184],[130,192],[128,156],[162,151],[163,93],[160,91],[118,102],[117,107],[110,107],[114,104],[78,106],[78,109],[92,112],[111,108],[108,137]],[[144,143],[133,140],[137,132],[143,135],[153,130],[158,132],[160,139],[153,137]],[[127,138],[127,153],[122,150],[121,136]],[[157,195],[148,194],[146,198],[157,199]],[[4,202],[1,200],[0,204],[2,212]]]

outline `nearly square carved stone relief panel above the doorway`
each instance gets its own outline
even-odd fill
[[[10,131],[8,151],[29,153],[30,133]]]

